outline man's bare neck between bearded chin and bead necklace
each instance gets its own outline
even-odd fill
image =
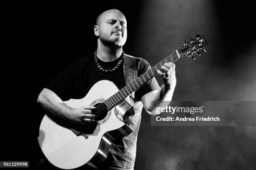
[[[121,56],[122,47],[108,47],[102,43],[98,43],[97,57],[105,62],[111,62]]]

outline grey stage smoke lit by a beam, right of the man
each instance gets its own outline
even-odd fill
[[[204,33],[210,43],[196,60],[182,57],[176,62],[173,100],[256,100],[256,41],[229,41],[234,32],[244,32],[235,25],[224,25],[233,30],[223,28],[223,23],[230,23],[223,20],[225,13],[232,16],[236,11],[228,10],[217,15],[215,2],[204,0],[145,2],[134,49],[151,66],[195,34]],[[157,80],[162,83],[161,77]],[[135,170],[256,169],[255,126],[175,127],[149,122],[150,116],[142,113]]]

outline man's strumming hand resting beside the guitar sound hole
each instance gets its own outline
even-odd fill
[[[69,114],[69,120],[79,125],[90,123],[94,121],[93,119],[95,118],[95,115],[92,115],[92,110],[94,109],[95,107],[92,106],[84,106],[73,109]]]

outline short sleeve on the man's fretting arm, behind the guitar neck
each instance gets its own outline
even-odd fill
[[[140,57],[136,57],[136,65],[138,68],[138,77],[142,75],[144,72],[151,69],[150,64],[146,60]],[[146,82],[145,85],[143,85],[141,88],[136,90],[135,98],[136,100],[141,100],[141,97],[143,95],[146,95],[148,92],[151,92],[153,90],[159,90],[159,89],[160,89],[159,84],[156,81],[156,78],[153,77],[148,82]]]

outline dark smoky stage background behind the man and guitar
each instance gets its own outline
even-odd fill
[[[176,62],[173,100],[256,100],[255,5],[249,1],[145,0],[13,3],[5,9],[1,159],[43,158],[37,142],[43,113],[36,99],[72,61],[94,52],[99,13],[125,15],[125,53],[155,65],[184,40],[203,33],[207,52]],[[162,84],[160,76],[157,76]],[[135,170],[254,170],[255,126],[151,126],[142,112]]]

